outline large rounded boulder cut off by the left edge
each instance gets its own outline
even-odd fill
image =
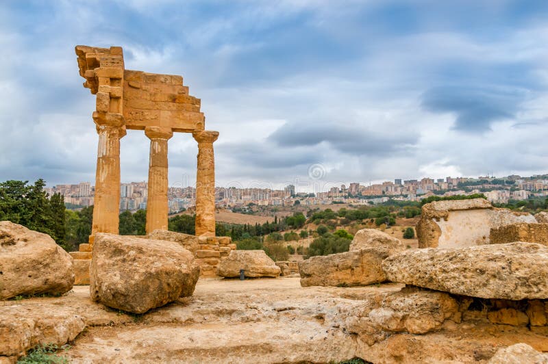
[[[70,291],[73,259],[47,234],[0,222],[0,300]]]

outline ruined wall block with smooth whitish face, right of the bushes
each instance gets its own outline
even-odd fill
[[[458,248],[489,244],[490,229],[536,222],[530,213],[496,209],[484,198],[427,203],[416,224],[419,248]]]

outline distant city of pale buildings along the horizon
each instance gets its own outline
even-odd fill
[[[283,190],[269,188],[216,187],[217,207],[230,209],[246,207],[250,203],[259,206],[329,205],[331,203],[377,204],[389,199],[420,201],[428,196],[454,196],[460,194],[483,193],[492,203],[508,203],[508,200],[527,200],[535,196],[547,196],[548,174],[533,177],[446,177],[445,179],[423,178],[403,181],[386,181],[363,185],[350,183],[349,186],[331,187],[327,192],[298,192],[295,185],[287,185]],[[50,196],[59,193],[64,196],[67,207],[77,209],[93,205],[95,186],[89,182],[77,185],[55,185],[47,187]],[[170,213],[176,213],[195,206],[194,187],[169,187],[168,200]],[[298,201],[298,202],[297,202]],[[136,211],[147,208],[147,182],[121,184],[121,211]]]

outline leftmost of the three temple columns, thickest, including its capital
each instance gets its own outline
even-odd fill
[[[94,112],[99,133],[97,171],[90,244],[95,233],[118,234],[120,214],[120,138],[125,135],[121,114]]]

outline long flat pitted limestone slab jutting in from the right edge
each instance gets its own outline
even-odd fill
[[[382,262],[387,278],[451,294],[504,300],[548,298],[548,248],[515,242],[412,249]]]

